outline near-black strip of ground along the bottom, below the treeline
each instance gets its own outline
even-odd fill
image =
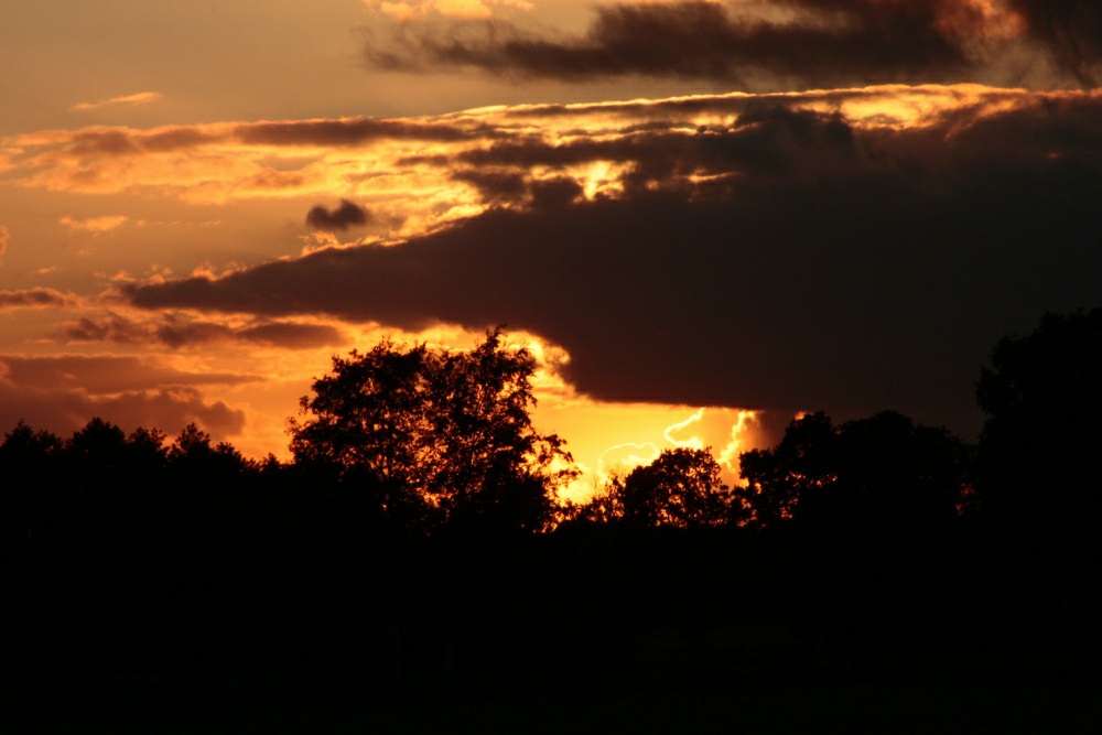
[[[3,682],[2,732],[974,735],[1087,733],[1102,723],[1102,678],[1074,657],[900,666],[653,656],[557,681],[509,672],[402,684],[325,673],[36,674]]]

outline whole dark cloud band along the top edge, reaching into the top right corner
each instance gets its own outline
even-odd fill
[[[1013,0],[1026,37],[1059,64],[1098,60],[1094,0]],[[1050,7],[1055,6],[1055,7]],[[704,78],[791,89],[887,82],[961,82],[975,77],[1006,45],[1000,18],[960,0],[780,0],[752,14],[714,2],[606,4],[581,37],[526,31],[503,21],[403,24],[365,50],[382,69],[474,67],[517,78],[586,82],[645,75]],[[997,12],[997,11],[996,11]],[[1005,11],[1004,24],[1013,19]],[[1085,23],[1085,25],[1084,25]]]

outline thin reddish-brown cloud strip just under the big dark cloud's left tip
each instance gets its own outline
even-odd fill
[[[259,321],[230,325],[172,314],[158,320],[134,320],[109,313],[82,316],[61,325],[60,336],[69,343],[112,342],[161,344],[172,349],[209,344],[244,343],[282,349],[316,349],[348,343],[347,335],[329,324]]]

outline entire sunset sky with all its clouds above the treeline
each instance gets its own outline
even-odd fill
[[[974,440],[1102,305],[1098,0],[6,0],[0,431],[288,458],[334,355],[540,358],[575,494],[806,411]],[[581,496],[580,496],[581,497]]]

